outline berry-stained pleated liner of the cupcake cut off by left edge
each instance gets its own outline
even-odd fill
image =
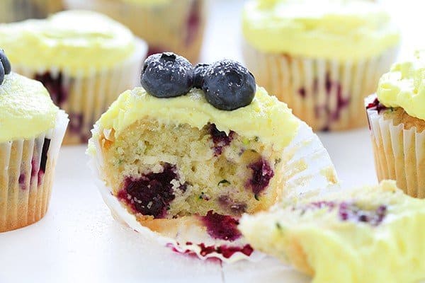
[[[68,115],[33,139],[0,143],[0,232],[33,224],[45,215]]]

